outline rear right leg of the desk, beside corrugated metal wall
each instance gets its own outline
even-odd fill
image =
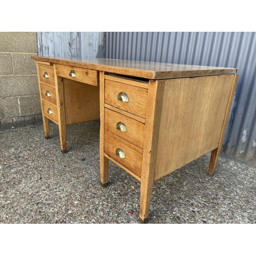
[[[238,81],[238,75],[234,75],[234,80],[233,80],[232,89],[231,89],[231,92],[230,92],[230,95],[229,95],[228,105],[227,105],[227,109],[226,109],[226,113],[225,113],[225,118],[224,118],[224,122],[223,122],[223,126],[222,126],[222,131],[221,131],[221,135],[220,135],[219,144],[218,144],[218,147],[211,152],[209,169],[208,169],[208,176],[214,175],[214,172],[215,172],[215,169],[216,169],[218,157],[219,157],[220,152],[221,152],[222,141],[223,141],[225,130],[226,130],[228,116],[229,116],[229,112],[230,112],[230,109],[231,109],[232,100],[233,100],[233,97],[234,97],[234,91],[236,90],[236,86],[237,86],[237,81]]]

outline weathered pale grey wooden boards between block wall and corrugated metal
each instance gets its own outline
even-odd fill
[[[104,32],[37,32],[43,57],[104,58]]]

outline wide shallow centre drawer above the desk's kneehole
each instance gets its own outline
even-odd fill
[[[81,69],[56,64],[56,75],[69,78],[75,81],[88,83],[92,86],[99,85],[98,72],[96,70]]]

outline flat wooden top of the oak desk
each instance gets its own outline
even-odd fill
[[[39,57],[35,55],[32,55],[31,58],[37,61],[52,62],[71,67],[86,68],[148,79],[166,79],[237,73],[236,68],[180,65],[137,60],[75,57]]]

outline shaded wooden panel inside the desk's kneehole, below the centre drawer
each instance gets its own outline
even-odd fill
[[[97,120],[99,87],[63,78],[66,125]]]

